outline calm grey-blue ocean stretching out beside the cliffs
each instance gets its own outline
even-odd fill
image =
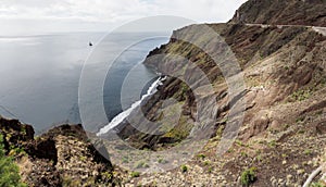
[[[86,60],[93,51],[111,54],[121,50],[120,43],[128,43],[135,37],[147,38],[148,35],[152,36],[147,33],[121,34],[102,39],[104,33],[71,33],[0,37],[0,115],[32,124],[37,134],[63,123],[82,123],[78,86]],[[103,98],[99,98],[99,101],[103,101],[108,123],[123,112],[122,102],[125,107],[131,107],[158,78],[155,72],[141,62],[149,51],[168,41],[168,35],[158,34],[163,35],[166,37],[145,39],[130,46],[115,59],[110,70],[105,70],[108,67],[102,63],[112,59],[98,57],[100,63],[97,68],[108,71]],[[93,46],[90,47],[89,41]],[[136,65],[137,68],[133,68]],[[130,95],[122,99],[122,84],[130,71],[134,71],[135,77],[127,87]],[[91,78],[87,82],[89,85],[93,84]],[[143,82],[148,84],[143,86]],[[141,94],[133,95],[140,86]],[[96,102],[97,99],[92,98],[87,103],[91,105]],[[89,115],[92,116],[90,120],[97,122],[98,111],[88,112],[92,113]],[[97,132],[101,127],[102,121],[99,126],[92,126],[89,130]]]

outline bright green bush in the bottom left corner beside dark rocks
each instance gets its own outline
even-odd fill
[[[18,166],[14,163],[13,158],[7,157],[3,148],[3,136],[0,134],[0,186],[22,187],[27,186],[21,183]]]

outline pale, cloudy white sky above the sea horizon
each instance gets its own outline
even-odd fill
[[[246,0],[0,0],[0,36],[110,32],[130,21],[174,15],[199,23],[231,18]]]

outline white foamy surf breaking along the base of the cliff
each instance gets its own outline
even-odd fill
[[[155,94],[158,91],[158,86],[162,85],[162,82],[165,80],[166,77],[160,77],[158,78],[147,90],[147,94],[141,97],[139,101],[136,101],[135,103],[131,104],[131,107],[118,115],[116,115],[106,126],[101,128],[99,133],[97,133],[97,136],[101,136],[105,133],[108,133],[110,129],[116,127],[120,123],[122,123],[137,107],[141,104],[141,102],[150,97],[151,95]]]

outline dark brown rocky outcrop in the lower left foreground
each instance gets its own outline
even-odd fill
[[[110,161],[87,140],[80,125],[62,125],[34,137],[30,125],[0,117],[7,154],[28,186],[110,186]]]

